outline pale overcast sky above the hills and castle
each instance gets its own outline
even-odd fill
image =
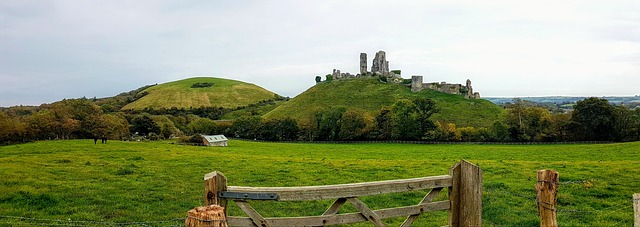
[[[196,76],[294,97],[378,50],[482,96],[640,95],[640,1],[0,0],[0,106]]]

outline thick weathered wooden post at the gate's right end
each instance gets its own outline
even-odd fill
[[[482,226],[482,170],[465,160],[449,170],[449,226]]]

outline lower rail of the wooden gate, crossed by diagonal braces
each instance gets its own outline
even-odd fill
[[[450,208],[449,201],[438,201],[422,205],[395,207],[382,210],[374,210],[380,218],[404,217],[420,212],[431,212],[439,210],[448,210]],[[352,224],[368,221],[362,213],[335,214],[329,216],[311,216],[311,217],[286,217],[286,218],[265,218],[266,222],[271,226],[323,226]],[[227,217],[229,226],[254,226],[251,218],[248,217]]]

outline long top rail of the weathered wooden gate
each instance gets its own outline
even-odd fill
[[[451,186],[449,175],[353,184],[304,187],[228,186],[230,192],[277,193],[281,201],[305,201],[379,195]]]

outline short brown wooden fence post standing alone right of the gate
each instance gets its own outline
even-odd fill
[[[538,170],[536,183],[536,200],[541,227],[557,227],[556,204],[558,195],[559,174],[555,170]]]

